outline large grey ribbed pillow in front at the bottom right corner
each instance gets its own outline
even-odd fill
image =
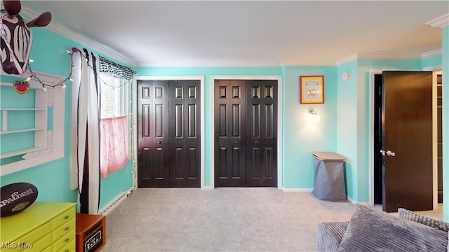
[[[446,251],[448,233],[356,205],[337,251]]]

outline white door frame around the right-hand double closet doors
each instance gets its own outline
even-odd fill
[[[215,80],[278,80],[278,142],[277,142],[277,166],[278,166],[278,189],[283,188],[282,184],[282,118],[283,118],[283,101],[282,101],[282,76],[210,76],[210,146],[212,152],[210,153],[210,188],[215,188],[215,120],[214,118],[214,89],[215,89]]]

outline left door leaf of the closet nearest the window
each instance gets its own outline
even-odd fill
[[[168,81],[138,80],[138,186],[170,186]]]

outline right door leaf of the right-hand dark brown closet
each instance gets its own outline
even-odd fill
[[[277,185],[277,80],[246,80],[246,186]]]

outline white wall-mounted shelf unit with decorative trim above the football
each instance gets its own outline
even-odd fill
[[[34,71],[39,79],[48,85],[55,85],[65,78],[49,73]],[[29,73],[24,73],[27,76]],[[30,74],[29,74],[30,75]],[[21,79],[22,76],[13,76]],[[13,88],[12,83],[0,83],[1,88]],[[1,130],[0,137],[20,139],[20,134],[29,134],[30,143],[26,147],[13,149],[0,153],[0,159],[21,156],[15,162],[6,162],[0,167],[0,176],[18,172],[22,169],[42,165],[58,158],[64,157],[64,108],[65,88],[62,86],[47,87],[43,90],[42,84],[34,80],[29,81],[31,90],[34,90],[34,106],[25,107],[8,104],[7,100],[1,102]],[[30,91],[29,91],[30,92]],[[52,108],[52,109],[49,109]],[[22,116],[23,115],[27,115]],[[50,113],[50,115],[49,115]],[[17,120],[11,123],[11,120]],[[32,132],[32,133],[29,133]],[[34,136],[33,136],[34,135]],[[34,137],[34,140],[33,138]],[[8,144],[8,142],[2,144]],[[31,147],[30,147],[31,144]]]

